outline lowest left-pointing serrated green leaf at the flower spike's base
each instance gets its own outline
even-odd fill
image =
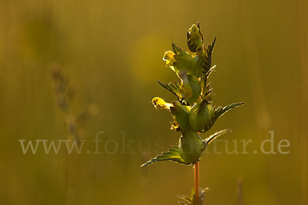
[[[141,165],[141,167],[146,167],[151,163],[155,163],[157,161],[174,161],[186,165],[186,163],[179,154],[178,146],[173,146],[171,149],[168,149],[168,152],[163,152],[161,155],[157,155],[155,158],[152,158],[149,161],[145,162],[143,165]]]

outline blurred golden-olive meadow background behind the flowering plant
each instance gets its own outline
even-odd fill
[[[140,165],[178,141],[171,115],[149,102],[175,100],[156,82],[176,78],[162,57],[171,42],[186,49],[187,29],[200,22],[206,44],[217,37],[214,104],[246,102],[201,136],[231,128],[221,139],[238,140],[239,151],[240,140],[253,140],[249,154],[202,155],[205,204],[238,204],[240,179],[244,204],[308,204],[307,9],[305,0],[0,1],[0,203],[177,204],[189,194],[192,166]],[[64,144],[59,154],[42,144],[23,154],[18,141],[67,139],[54,64],[74,90],[71,113],[100,108],[80,127],[86,142],[70,166]],[[100,131],[102,153],[93,154]],[[277,154],[260,153],[268,131]],[[282,139],[289,154],[277,151]]]

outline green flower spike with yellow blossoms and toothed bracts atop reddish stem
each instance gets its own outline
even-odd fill
[[[216,68],[216,66],[211,66],[211,55],[215,43],[216,38],[213,43],[204,46],[203,35],[198,23],[188,29],[187,51],[172,44],[171,50],[165,52],[163,60],[166,61],[166,67],[170,67],[178,79],[174,84],[164,84],[160,81],[158,83],[173,93],[177,97],[177,101],[166,103],[162,98],[155,97],[152,99],[152,104],[156,109],[165,109],[171,112],[174,120],[171,122],[171,129],[180,131],[182,135],[178,146],[173,146],[167,152],[157,155],[144,163],[142,167],[163,160],[183,165],[195,164],[200,160],[202,151],[211,141],[229,132],[229,130],[223,130],[204,140],[199,135],[199,133],[206,132],[213,127],[215,121],[225,112],[244,104],[237,103],[224,108],[212,105],[211,91],[213,89],[210,88],[207,78]]]

